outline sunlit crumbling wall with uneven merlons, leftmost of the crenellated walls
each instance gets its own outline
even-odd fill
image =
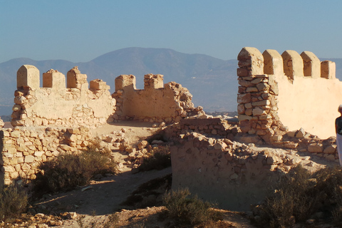
[[[43,73],[24,65],[17,73],[17,90],[11,124],[14,126],[63,125],[63,127],[96,126],[113,119],[115,99],[102,80],[88,81],[77,67],[66,77],[55,70]]]

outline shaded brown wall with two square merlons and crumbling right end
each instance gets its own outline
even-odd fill
[[[194,107],[187,88],[175,82],[163,84],[162,75],[147,74],[143,90],[135,88],[135,76],[115,78],[115,119],[150,122],[179,122],[192,115],[204,115],[202,107]]]

